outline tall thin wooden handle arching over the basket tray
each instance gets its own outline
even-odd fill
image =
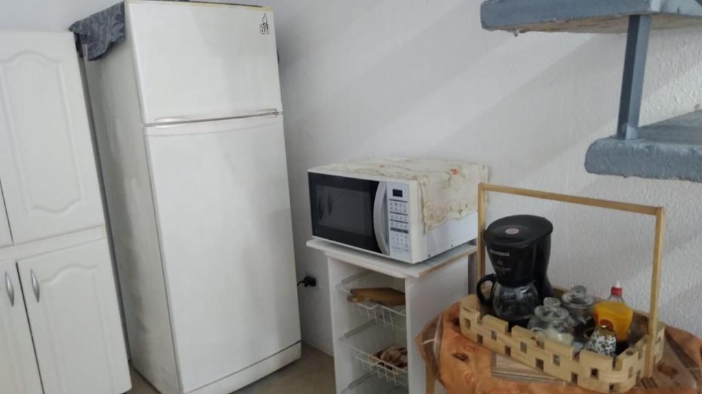
[[[656,345],[656,327],[658,325],[658,287],[661,283],[661,260],[663,259],[663,231],[665,230],[665,211],[661,207],[651,207],[649,205],[639,205],[630,203],[620,203],[618,201],[599,200],[597,198],[587,198],[569,196],[567,194],[550,193],[548,191],[537,191],[529,189],[519,189],[516,187],[500,186],[496,184],[481,183],[478,185],[478,278],[485,275],[485,247],[483,241],[483,231],[485,230],[486,201],[487,192],[513,194],[531,198],[541,198],[542,200],[559,201],[590,207],[605,208],[633,212],[642,215],[656,217],[656,238],[654,240],[654,267],[651,273],[651,303],[649,306],[649,327],[646,348],[646,365],[644,377],[651,377],[654,373],[654,346]]]

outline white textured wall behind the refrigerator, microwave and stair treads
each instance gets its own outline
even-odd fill
[[[0,0],[0,27],[60,29],[103,0]],[[360,156],[465,158],[499,184],[663,205],[661,316],[702,335],[702,184],[589,175],[588,144],[614,133],[623,35],[485,32],[478,0],[272,0],[276,7],[305,341],[331,351],[324,259],[308,250],[305,171]],[[655,32],[642,121],[702,101],[702,29]],[[597,294],[622,280],[647,308],[653,220],[496,196],[491,219],[555,224],[552,282]],[[431,297],[431,294],[427,294]]]

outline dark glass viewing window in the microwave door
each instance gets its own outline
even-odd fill
[[[333,186],[317,186],[319,225],[329,229],[373,236],[373,201],[371,194]]]

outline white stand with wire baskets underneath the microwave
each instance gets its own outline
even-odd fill
[[[324,240],[336,372],[336,393],[425,393],[425,367],[414,343],[429,320],[468,294],[474,245],[464,244],[420,264],[406,264]],[[392,287],[405,293],[405,306],[347,301],[356,287]],[[406,346],[409,366],[388,367],[371,355],[392,344]]]

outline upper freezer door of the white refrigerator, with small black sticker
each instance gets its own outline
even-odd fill
[[[282,111],[272,8],[126,1],[145,124]]]

